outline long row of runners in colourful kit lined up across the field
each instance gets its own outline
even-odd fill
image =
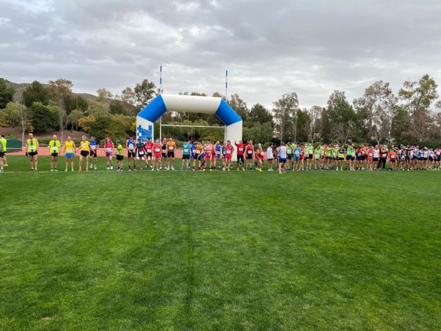
[[[137,170],[175,170],[176,142],[172,139],[163,141],[141,141],[129,137],[125,143],[115,142],[106,137],[103,146],[99,146],[95,137],[87,139],[81,137],[79,146],[76,146],[70,136],[62,144],[54,134],[49,141],[50,171],[58,171],[58,158],[65,157],[65,171],[74,171],[74,157],[79,154],[79,168],[88,172],[97,169],[97,151],[105,151],[107,170],[113,170],[113,157],[116,157],[116,171],[123,171],[124,150],[127,149],[127,165],[129,171]],[[39,141],[30,133],[25,144],[26,155],[30,161],[30,170],[38,171]],[[311,143],[280,143],[280,146],[271,144],[266,150],[253,141],[190,141],[183,143],[181,170],[187,171],[214,171],[231,170],[232,155],[236,151],[236,170],[263,171],[265,160],[268,171],[278,170],[284,173],[287,170],[440,170],[440,148],[420,148],[420,146],[392,146],[386,145],[355,146],[353,143],[320,144],[314,148]],[[0,171],[7,166],[6,139],[0,134]]]

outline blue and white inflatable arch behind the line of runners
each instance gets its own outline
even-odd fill
[[[136,137],[142,141],[154,139],[153,123],[166,111],[171,112],[201,112],[216,114],[227,127],[225,140],[242,139],[242,119],[225,100],[216,97],[199,97],[180,94],[159,94],[136,116]]]

